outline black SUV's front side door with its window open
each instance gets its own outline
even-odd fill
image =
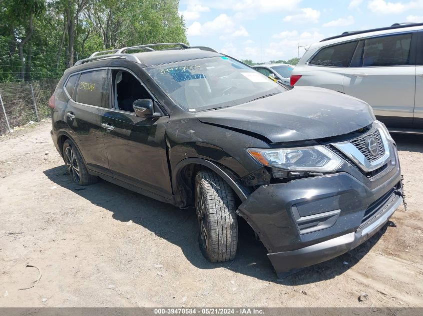
[[[114,178],[170,199],[165,130],[168,116],[144,118],[134,113],[136,99],[152,99],[129,71],[112,70],[112,109],[102,117],[109,166]],[[157,103],[155,103],[157,107]]]

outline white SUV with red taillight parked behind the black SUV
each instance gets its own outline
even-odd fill
[[[355,96],[390,131],[423,133],[423,23],[344,32],[312,44],[291,85]]]

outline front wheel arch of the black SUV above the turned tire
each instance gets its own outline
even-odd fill
[[[232,188],[241,202],[247,199],[248,190],[236,180],[235,175],[229,169],[210,160],[186,158],[172,170],[172,186],[177,206],[186,207],[190,205],[193,199],[195,175],[202,169],[210,169],[218,174]]]

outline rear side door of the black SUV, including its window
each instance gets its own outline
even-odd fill
[[[81,72],[65,115],[87,168],[111,176],[101,122],[110,104],[109,86],[108,69]]]

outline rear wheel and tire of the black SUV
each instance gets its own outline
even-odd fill
[[[66,168],[72,182],[79,185],[90,185],[99,180],[97,176],[92,176],[88,173],[81,153],[70,139],[65,140],[63,144],[63,159],[65,160]]]

